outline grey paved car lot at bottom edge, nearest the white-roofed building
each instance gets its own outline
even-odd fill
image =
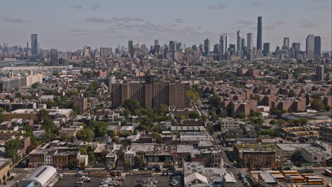
[[[121,183],[121,187],[134,187],[138,185],[139,183],[136,182],[137,179],[148,179],[153,178],[153,176],[126,176],[125,181]],[[170,187],[170,176],[155,176],[155,179],[157,179],[157,187]],[[144,184],[144,183],[140,183]]]

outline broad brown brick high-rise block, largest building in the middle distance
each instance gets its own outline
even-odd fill
[[[161,104],[185,108],[186,83],[129,82],[111,84],[112,106],[121,106],[123,101],[133,98],[144,108],[160,108]]]

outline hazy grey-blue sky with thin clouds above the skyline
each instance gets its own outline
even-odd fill
[[[40,48],[74,51],[134,44],[160,45],[170,40],[187,47],[211,41],[227,33],[228,43],[254,34],[262,16],[263,42],[270,50],[321,36],[323,51],[331,50],[331,0],[10,0],[0,1],[0,45],[26,46],[38,34]]]

